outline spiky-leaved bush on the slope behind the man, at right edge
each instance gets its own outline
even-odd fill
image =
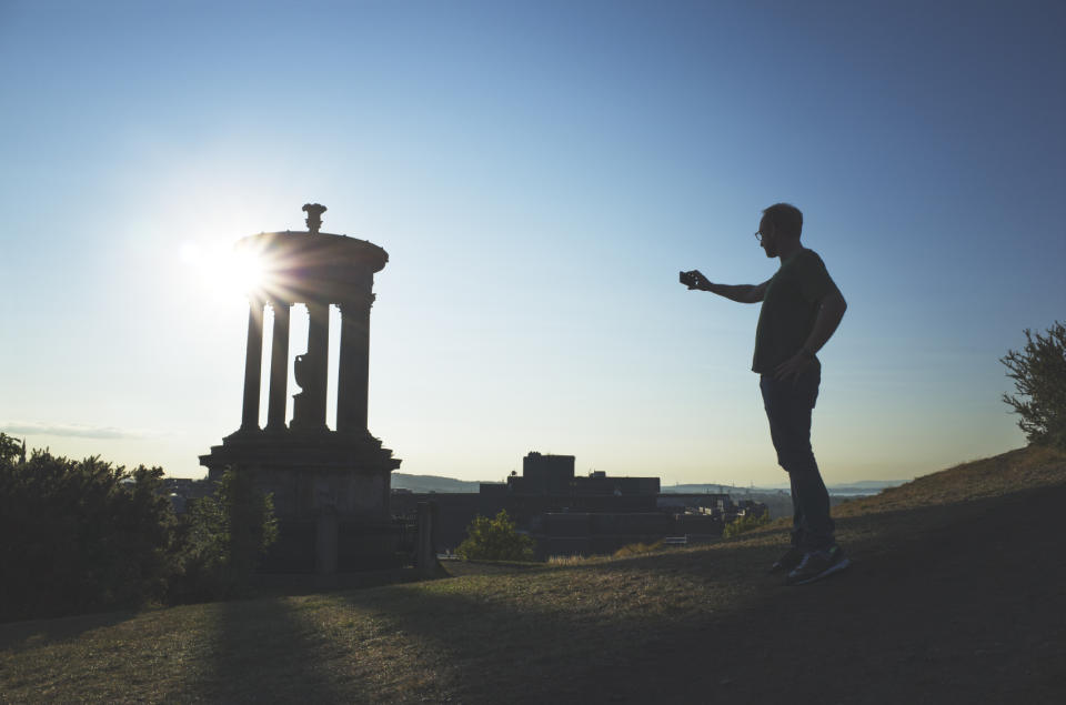
[[[1003,401],[1020,416],[1029,443],[1066,449],[1066,326],[1056,321],[1046,335],[1026,329],[1025,340],[999,360],[1016,392]]]

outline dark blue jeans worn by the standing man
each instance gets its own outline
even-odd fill
[[[792,481],[792,544],[803,551],[821,551],[834,543],[829,493],[811,450],[811,412],[821,382],[817,362],[798,377],[781,381],[764,374],[760,381],[777,464]]]

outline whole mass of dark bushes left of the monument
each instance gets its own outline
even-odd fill
[[[228,471],[174,515],[161,467],[71,461],[0,433],[0,622],[240,594],[278,535],[270,496]]]

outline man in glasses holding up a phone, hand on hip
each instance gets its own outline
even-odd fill
[[[763,211],[755,239],[781,266],[762,284],[713,284],[698,270],[681,274],[690,290],[763,304],[752,370],[760,375],[777,462],[792,482],[792,547],[772,568],[787,571],[786,585],[812,583],[849,564],[833,537],[829,494],[811,449],[811,412],[822,381],[817,352],[847,303],[822,258],[800,243],[802,230],[803,213],[794,205],[777,203]]]

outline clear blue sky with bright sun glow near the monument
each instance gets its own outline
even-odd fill
[[[1019,446],[998,359],[1066,319],[1064,36],[1057,0],[0,0],[0,430],[200,476],[244,364],[213,253],[318,201],[391,255],[401,472],[780,483],[757,306],[676,280],[770,278],[788,201],[849,304],[827,481]]]

